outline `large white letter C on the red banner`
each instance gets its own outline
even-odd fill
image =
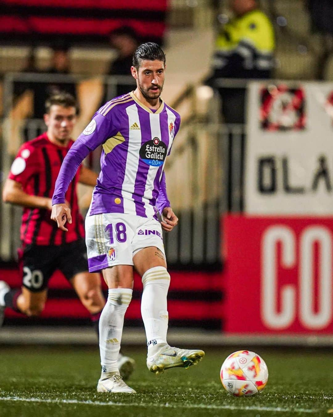
[[[281,311],[277,311],[278,274],[276,244],[282,244],[283,268],[292,268],[296,261],[295,235],[286,226],[271,226],[261,243],[261,319],[271,329],[286,329],[295,319],[296,297],[293,285],[281,288]]]

